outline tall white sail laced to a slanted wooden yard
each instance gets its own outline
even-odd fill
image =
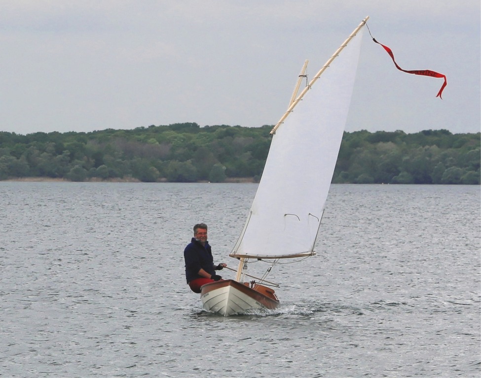
[[[273,135],[232,257],[314,254],[354,87],[362,29]]]

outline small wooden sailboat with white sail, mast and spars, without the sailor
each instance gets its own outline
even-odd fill
[[[302,259],[314,251],[349,110],[366,17],[298,94],[271,130],[259,187],[229,256],[239,259],[234,280],[201,287],[205,310],[228,316],[276,309],[280,302],[266,273],[247,273],[252,261]],[[335,62],[334,62],[335,60]],[[315,85],[314,85],[315,84]],[[253,279],[249,281],[250,279]],[[257,280],[257,281],[256,281]]]

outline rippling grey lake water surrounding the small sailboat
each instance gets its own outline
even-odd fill
[[[480,377],[479,186],[333,185],[280,308],[207,313],[191,228],[236,267],[256,189],[0,182],[0,376]]]

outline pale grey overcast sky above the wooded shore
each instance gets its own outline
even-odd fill
[[[274,125],[370,16],[347,131],[479,132],[479,0],[0,0],[0,131]]]

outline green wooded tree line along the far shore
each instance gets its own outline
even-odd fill
[[[27,135],[0,131],[0,180],[259,181],[271,127],[183,123]],[[480,144],[479,132],[345,132],[333,183],[480,185]]]

